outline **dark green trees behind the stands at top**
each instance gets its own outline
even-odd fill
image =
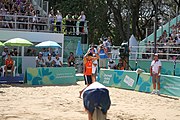
[[[63,17],[69,12],[85,11],[89,21],[89,43],[98,43],[105,35],[111,36],[115,45],[128,41],[128,32],[138,40],[145,38],[146,29],[150,34],[156,5],[159,26],[162,21],[165,24],[175,17],[180,8],[179,0],[49,0],[49,3],[53,9],[60,10]]]

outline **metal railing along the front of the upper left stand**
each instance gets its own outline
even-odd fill
[[[55,20],[54,22],[51,20],[50,17],[0,14],[0,29],[31,32],[58,32],[71,35],[88,34],[88,21],[84,22],[84,26],[80,26],[80,21],[73,21],[75,24],[68,25],[63,21],[60,25],[57,25]],[[83,30],[80,31],[80,28]]]

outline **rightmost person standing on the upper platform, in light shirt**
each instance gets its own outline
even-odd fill
[[[82,34],[84,32],[84,23],[85,23],[85,20],[86,20],[86,16],[84,14],[84,11],[81,11],[81,15],[79,16],[79,32],[80,34]]]

